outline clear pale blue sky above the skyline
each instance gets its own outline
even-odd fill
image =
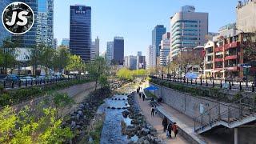
[[[170,17],[181,6],[195,6],[198,12],[209,13],[209,31],[235,22],[237,0],[54,0],[54,38],[60,44],[69,38],[70,5],[92,7],[92,39],[100,38],[100,51],[114,36],[125,38],[125,55],[137,54],[151,44],[154,26],[163,24],[170,31]]]

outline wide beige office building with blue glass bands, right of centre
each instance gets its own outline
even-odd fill
[[[182,48],[203,46],[208,34],[208,13],[195,12],[194,6],[182,6],[182,10],[170,18],[171,57],[176,58]]]

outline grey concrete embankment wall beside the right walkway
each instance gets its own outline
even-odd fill
[[[178,90],[173,90],[165,86],[158,86],[151,82],[150,86],[158,87],[158,93],[159,95],[162,95],[162,99],[167,105],[182,112],[183,114],[186,114],[190,118],[197,118],[200,115],[200,105],[203,108],[203,112],[215,106],[214,109],[211,110],[211,114],[204,114],[203,121],[205,122],[209,122],[210,117],[217,118],[219,110],[221,114],[228,110],[226,103],[217,102],[210,98],[195,97],[191,94],[182,93]],[[222,118],[227,118],[227,113],[224,114]],[[199,119],[201,118],[198,118],[198,120]]]

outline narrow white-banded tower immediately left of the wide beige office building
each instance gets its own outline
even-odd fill
[[[160,65],[167,66],[167,57],[170,54],[170,32],[162,35],[160,44]]]

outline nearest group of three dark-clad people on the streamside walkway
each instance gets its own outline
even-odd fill
[[[171,132],[174,132],[174,137],[176,138],[176,135],[178,134],[178,126],[176,125],[176,122],[174,123],[169,123],[167,118],[163,118],[162,120],[162,126],[163,126],[163,132],[166,133],[167,138],[171,138]]]

